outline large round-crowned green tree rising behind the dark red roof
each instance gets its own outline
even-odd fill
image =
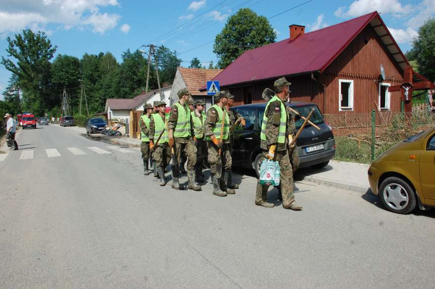
[[[244,51],[273,43],[275,38],[276,33],[266,17],[243,8],[228,18],[216,35],[213,52],[219,57],[218,66],[225,68]]]

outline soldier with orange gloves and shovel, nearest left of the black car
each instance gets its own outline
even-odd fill
[[[228,96],[226,92],[220,91],[213,98],[215,104],[207,111],[204,132],[207,139],[208,162],[213,183],[213,194],[224,197],[227,194],[235,194],[234,189],[227,187],[229,171],[231,169],[231,154],[229,152],[229,117],[225,112],[224,106],[227,104]],[[224,123],[224,134],[223,139],[220,139],[222,122]],[[221,149],[222,172],[218,172],[219,149]],[[221,178],[223,179],[222,181]]]

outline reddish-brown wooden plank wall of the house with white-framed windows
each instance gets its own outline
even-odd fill
[[[367,26],[348,45],[348,47],[325,69],[322,75],[315,74],[315,78],[323,86],[314,81],[311,75],[286,77],[290,86],[290,96],[293,101],[316,103],[326,114],[336,113],[367,113],[376,108],[374,101],[379,104],[379,75],[383,64],[386,80],[383,83],[399,85],[403,82],[403,71],[392,60],[371,26]],[[339,111],[339,80],[353,80],[353,110]],[[264,102],[262,93],[265,88],[273,89],[275,80],[258,81],[253,84],[229,88],[234,95],[234,104],[248,104]],[[224,88],[228,89],[228,88]],[[324,99],[325,96],[325,99]],[[400,111],[401,93],[390,93],[390,110]]]

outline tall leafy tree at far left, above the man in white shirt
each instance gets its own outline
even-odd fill
[[[23,30],[15,39],[7,38],[8,58],[2,56],[2,64],[18,77],[23,90],[23,109],[41,114],[55,105],[50,87],[50,62],[56,46],[44,32]],[[12,59],[11,59],[12,58]]]

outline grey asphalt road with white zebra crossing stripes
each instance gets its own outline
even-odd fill
[[[252,174],[227,197],[175,191],[75,131],[26,129],[0,161],[1,288],[433,287],[434,210],[303,180],[302,211],[263,208]]]

